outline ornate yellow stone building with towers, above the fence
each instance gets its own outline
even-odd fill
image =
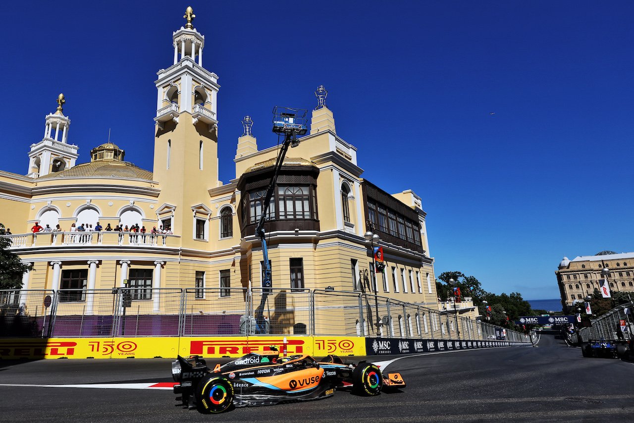
[[[220,86],[203,67],[205,37],[190,19],[172,38],[173,63],[155,81],[152,171],[126,162],[124,146],[113,143],[78,164],[61,94],[44,138],[30,147],[27,174],[0,171],[0,221],[13,233],[11,250],[34,265],[23,289],[112,289],[129,280],[136,288],[217,288],[213,297],[195,297],[212,303],[233,288],[261,287],[254,228],[278,146],[259,149],[245,117],[236,178],[219,181]],[[372,223],[386,264],[378,295],[438,309],[421,198],[411,190],[391,195],[362,178],[357,147],[337,134],[325,93],[316,91],[310,131],[288,150],[264,226],[273,287],[372,292],[373,254],[364,237]],[[37,222],[62,231],[33,234]],[[102,230],[94,231],[98,222]],[[71,231],[82,224],[93,231]],[[146,233],[106,230],[117,225]],[[150,235],[161,226],[171,231]],[[67,301],[93,308],[84,297]],[[158,297],[153,307],[162,307]]]

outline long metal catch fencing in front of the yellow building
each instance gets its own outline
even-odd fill
[[[501,339],[500,327],[452,311],[319,289],[0,290],[0,337],[288,334]],[[530,339],[507,329],[505,341]]]

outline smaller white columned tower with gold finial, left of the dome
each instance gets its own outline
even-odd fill
[[[64,94],[60,94],[57,98],[56,112],[46,116],[44,138],[39,143],[31,145],[27,173],[31,178],[39,178],[75,166],[79,147],[68,144],[70,119],[63,114],[64,103]]]

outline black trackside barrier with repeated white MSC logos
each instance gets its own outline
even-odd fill
[[[365,355],[434,353],[456,349],[532,346],[516,341],[448,341],[446,339],[366,338]]]

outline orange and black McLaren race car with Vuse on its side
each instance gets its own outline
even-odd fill
[[[316,361],[309,355],[280,356],[277,351],[250,353],[213,370],[200,356],[178,356],[172,362],[172,377],[178,382],[174,393],[181,395],[176,400],[201,413],[319,400],[344,387],[373,396],[382,389],[405,386],[400,374],[385,377],[376,365],[365,361],[345,364],[334,355]]]

